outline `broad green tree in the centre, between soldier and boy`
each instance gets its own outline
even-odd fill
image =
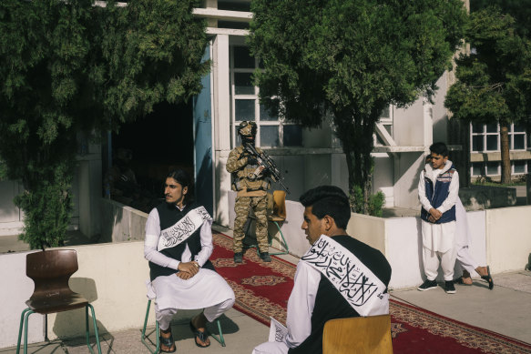
[[[260,101],[303,126],[332,113],[351,196],[368,189],[381,112],[434,94],[466,18],[460,0],[256,0],[251,10]]]

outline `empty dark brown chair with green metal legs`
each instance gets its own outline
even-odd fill
[[[97,351],[101,354],[97,335],[96,314],[94,308],[82,295],[72,291],[68,280],[77,272],[77,252],[74,249],[54,249],[30,253],[26,256],[26,276],[32,278],[35,289],[31,298],[26,301],[27,308],[20,315],[20,328],[16,354],[20,351],[20,339],[24,328],[24,353],[27,353],[27,319],[32,313],[47,315],[70,309],[85,308],[87,346],[91,353],[88,331],[88,308],[92,311]]]

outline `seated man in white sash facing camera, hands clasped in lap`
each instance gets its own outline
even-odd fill
[[[209,261],[212,254],[212,218],[204,207],[189,200],[189,177],[181,169],[168,174],[166,201],[155,207],[146,223],[144,256],[149,261],[148,298],[157,298],[160,351],[176,346],[170,321],[177,309],[204,308],[189,326],[198,347],[208,347],[206,323],[234,304],[234,292]]]

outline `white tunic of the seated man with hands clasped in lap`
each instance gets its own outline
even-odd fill
[[[203,266],[214,249],[212,244],[211,220],[205,220],[200,228],[201,250],[194,258]],[[169,258],[158,252],[158,238],[160,236],[160,221],[157,208],[151,210],[146,223],[146,239],[144,242],[144,256],[148,261],[161,267],[173,268],[178,272],[180,261],[191,261],[188,245],[179,259]],[[234,298],[229,284],[218,273],[200,268],[198,274],[188,280],[181,279],[175,274],[155,278],[148,283],[148,298],[157,298],[159,310],[165,308],[208,308],[213,305]]]

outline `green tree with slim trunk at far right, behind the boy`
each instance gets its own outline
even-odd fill
[[[465,122],[500,125],[502,183],[510,183],[508,127],[531,115],[531,44],[497,7],[470,15],[465,40],[471,50],[456,60],[444,105]]]

